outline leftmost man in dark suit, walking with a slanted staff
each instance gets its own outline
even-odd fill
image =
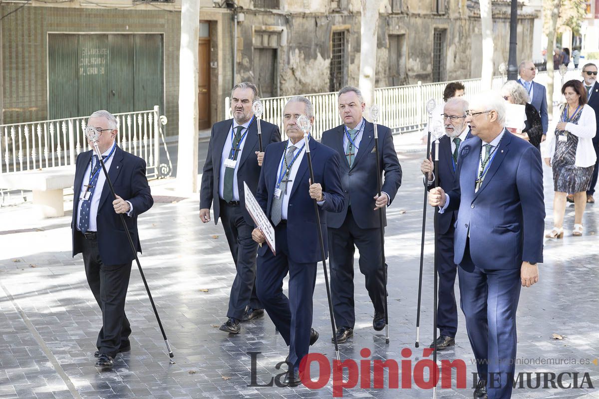
[[[152,208],[154,200],[146,179],[146,162],[121,150],[114,141],[116,118],[108,111],[96,111],[89,117],[87,127],[95,128],[100,134],[98,148],[117,199],[111,198],[108,182],[93,151],[79,154],[73,185],[72,255],[83,252],[87,283],[102,309],[95,366],[111,368],[117,353],[131,350],[131,325],[125,315],[125,297],[135,254],[118,214],[126,214],[127,228],[137,251],[141,252],[137,216]]]

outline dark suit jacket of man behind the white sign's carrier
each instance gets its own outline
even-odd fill
[[[219,201],[219,180],[220,180],[220,158],[223,147],[231,147],[231,125],[232,119],[215,123],[210,133],[210,144],[208,144],[208,154],[202,170],[202,185],[199,191],[199,209],[210,209],[214,206],[214,224],[218,223],[220,217]],[[262,130],[262,150],[271,142],[281,141],[279,126],[260,121]],[[239,200],[241,203],[241,212],[247,224],[253,226],[254,221],[246,210],[246,198],[244,194],[243,182],[247,183],[253,193],[256,192],[258,179],[260,178],[261,167],[258,166],[258,157],[255,152],[259,150],[258,143],[258,124],[256,119],[249,126],[246,138],[244,139],[243,151],[237,156],[239,167],[237,168],[237,187],[239,190]]]

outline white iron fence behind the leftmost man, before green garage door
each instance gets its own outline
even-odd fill
[[[170,176],[172,165],[160,163],[160,138],[167,118],[159,107],[148,111],[114,114],[118,122],[117,144],[146,161],[148,178]],[[0,125],[0,173],[75,165],[90,150],[84,128],[88,117]]]

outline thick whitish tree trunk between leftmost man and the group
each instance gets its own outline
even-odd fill
[[[177,190],[198,190],[199,2],[181,0]]]

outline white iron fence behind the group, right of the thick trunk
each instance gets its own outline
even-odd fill
[[[580,69],[569,69],[563,81],[570,79],[579,79]],[[493,90],[500,90],[506,82],[505,76],[496,76],[493,78]],[[562,86],[562,77],[559,71],[553,74],[553,105],[562,101],[562,95],[559,92]],[[480,79],[460,80],[465,86],[466,98],[482,90]],[[546,86],[547,71],[537,72],[535,78],[537,83]],[[380,106],[379,123],[390,127],[395,133],[413,132],[421,130],[428,122],[426,113],[426,102],[434,99],[440,103],[443,99],[443,89],[449,82],[413,84],[410,86],[380,87],[374,89],[376,103]],[[316,139],[325,130],[341,124],[341,118],[337,111],[337,93],[313,93],[305,95],[314,105],[314,126],[312,133]],[[262,119],[279,126],[283,136],[283,106],[292,96],[263,98],[264,114]],[[231,100],[225,99],[225,118],[231,118]]]

